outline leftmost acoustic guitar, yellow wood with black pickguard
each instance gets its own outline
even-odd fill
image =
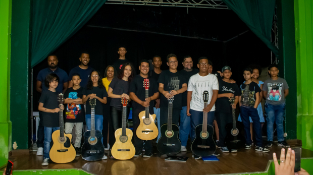
[[[63,104],[64,96],[62,93],[58,96],[59,106]],[[73,147],[71,140],[71,134],[64,134],[64,125],[63,125],[63,110],[59,111],[60,117],[60,130],[55,131],[52,134],[52,140],[54,142],[53,146],[50,149],[49,155],[50,159],[56,163],[68,163],[75,159],[76,151]]]

